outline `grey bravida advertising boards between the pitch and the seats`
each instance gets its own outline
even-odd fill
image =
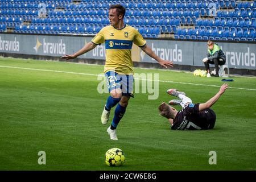
[[[92,38],[93,36],[1,33],[0,53],[2,56],[61,60],[60,56],[75,53]],[[159,57],[174,61],[176,69],[190,69],[191,71],[195,68],[204,69],[202,60],[207,55],[207,40],[146,40],[147,45]],[[216,43],[225,52],[226,64],[231,69],[230,73],[256,76],[255,43],[217,41]],[[156,61],[147,56],[139,47],[134,45],[132,52],[135,67],[160,68],[159,64],[156,64]],[[73,61],[104,64],[104,60],[105,44],[101,44]]]

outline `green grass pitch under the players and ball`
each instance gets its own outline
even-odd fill
[[[118,125],[119,140],[113,141],[106,133],[109,124],[100,121],[109,95],[97,92],[96,75],[102,72],[102,65],[0,58],[0,170],[256,169],[255,77],[229,82],[232,88],[212,107],[217,114],[213,130],[172,131],[158,113],[161,102],[174,99],[166,89],[205,102],[219,89],[205,85],[220,86],[221,78],[135,68],[172,82],[159,82],[156,100],[135,94]],[[105,152],[113,147],[125,152],[124,166],[106,166]],[[39,151],[46,152],[46,165],[38,164]],[[216,165],[208,163],[209,151],[216,151]]]

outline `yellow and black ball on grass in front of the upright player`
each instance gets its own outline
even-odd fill
[[[105,163],[108,166],[122,166],[125,163],[125,154],[120,148],[110,148],[105,154]]]

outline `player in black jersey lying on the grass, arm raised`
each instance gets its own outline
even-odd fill
[[[210,107],[228,88],[228,84],[223,84],[218,93],[203,104],[193,104],[191,98],[185,96],[184,92],[179,92],[176,89],[168,89],[168,94],[180,98],[180,100],[169,101],[169,104],[181,105],[182,110],[177,111],[174,107],[163,102],[158,107],[160,115],[168,119],[172,130],[213,129],[216,121],[216,114]]]

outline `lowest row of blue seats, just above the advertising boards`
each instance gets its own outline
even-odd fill
[[[1,30],[5,28],[5,25],[1,25]],[[60,34],[60,33],[68,33],[71,32],[73,34],[82,33],[82,34],[96,34],[100,31],[101,27],[93,27],[93,26],[17,26],[15,28],[15,32],[19,33],[32,33],[32,34]],[[147,36],[149,38],[156,38],[160,32],[160,27],[140,27],[138,31],[141,32],[143,36]],[[216,28],[216,29],[204,29],[199,28],[195,29],[177,29],[175,38],[182,38],[185,36],[187,39],[192,39],[193,36],[207,36],[208,38],[212,36],[218,40],[241,40],[241,39],[250,39],[254,40],[256,37],[254,28]]]

